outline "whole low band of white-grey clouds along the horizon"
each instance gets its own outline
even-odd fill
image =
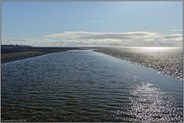
[[[9,39],[11,44],[31,46],[182,46],[182,34],[156,32],[63,32],[33,39]]]

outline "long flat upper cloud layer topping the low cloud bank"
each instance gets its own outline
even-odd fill
[[[157,33],[152,32],[124,32],[124,33],[112,33],[112,32],[64,32],[58,34],[51,34],[45,36],[46,38],[54,39],[133,39],[133,38],[153,38],[157,37]]]

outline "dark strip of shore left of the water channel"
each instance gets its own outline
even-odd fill
[[[1,63],[7,63],[29,57],[40,56],[48,53],[80,49],[81,48],[77,47],[29,47],[19,45],[1,45]]]

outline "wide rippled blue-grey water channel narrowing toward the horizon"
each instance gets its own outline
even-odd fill
[[[183,121],[183,83],[89,50],[1,65],[2,120]]]

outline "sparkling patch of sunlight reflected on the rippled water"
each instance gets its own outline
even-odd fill
[[[130,91],[135,121],[146,122],[182,122],[182,111],[174,106],[174,98],[162,92],[150,83],[141,83]]]

